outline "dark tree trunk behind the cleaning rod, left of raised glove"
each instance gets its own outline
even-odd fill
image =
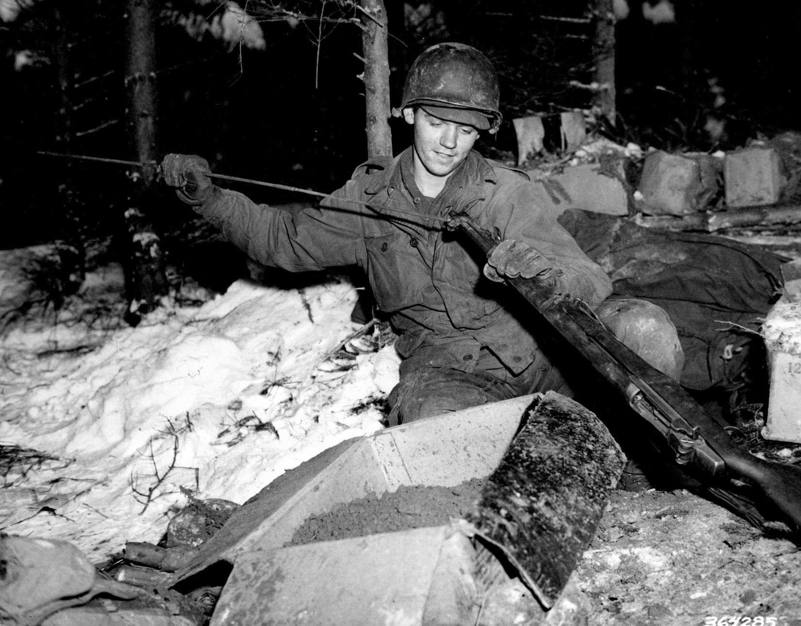
[[[155,85],[155,0],[127,0],[128,58],[125,86],[128,94],[128,130],[132,160],[155,162],[156,85]],[[127,292],[131,301],[128,322],[159,304],[167,294],[167,276],[161,238],[143,211],[153,206],[155,167],[135,168],[131,175],[131,194],[125,220],[130,256],[127,259]]]

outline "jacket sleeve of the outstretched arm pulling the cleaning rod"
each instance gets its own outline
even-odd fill
[[[348,181],[334,195],[342,199],[355,197],[356,187]],[[214,188],[206,202],[193,208],[219,228],[228,241],[264,265],[288,271],[360,265],[364,235],[359,206],[344,200],[325,203],[351,208],[287,210],[255,203],[246,195],[220,187]]]

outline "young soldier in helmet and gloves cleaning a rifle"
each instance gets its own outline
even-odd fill
[[[605,302],[610,279],[542,205],[540,188],[473,150],[479,133],[501,124],[497,74],[484,54],[461,43],[431,46],[392,113],[413,126],[412,145],[362,163],[320,207],[258,205],[213,185],[207,162],[194,155],[168,154],[164,179],[259,263],[364,270],[399,335],[390,425],[534,391],[573,395],[574,367],[560,362],[553,330],[517,307],[499,284],[505,276],[584,299],[623,343],[678,379],[682,349],[664,311],[641,300]],[[502,240],[489,259],[442,227],[457,211]]]

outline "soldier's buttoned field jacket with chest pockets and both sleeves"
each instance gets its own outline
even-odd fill
[[[482,275],[486,259],[472,242],[433,217],[466,209],[494,235],[528,243],[549,259],[557,292],[590,304],[610,295],[606,273],[542,205],[540,187],[525,174],[473,150],[431,199],[414,183],[412,163],[412,148],[394,159],[371,159],[334,199],[300,212],[259,205],[219,187],[195,210],[264,265],[289,271],[361,267],[377,307],[400,335],[397,351],[414,359],[414,368],[473,371],[485,347],[517,375],[537,353],[531,312],[517,311],[510,288]]]

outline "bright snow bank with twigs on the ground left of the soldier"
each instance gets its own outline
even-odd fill
[[[186,502],[181,488],[243,504],[382,427],[371,401],[397,382],[392,346],[376,350],[368,333],[349,357],[324,359],[360,327],[346,279],[299,289],[239,280],[215,297],[197,287],[200,306],[171,297],[129,327],[111,323],[123,302],[111,265],[58,315],[14,315],[35,294],[22,268],[47,254],[0,251],[0,445],[42,453],[0,466],[2,532],[68,540],[102,560],[127,541],[157,542]],[[105,315],[90,315],[98,302]],[[2,506],[22,494],[25,506]]]

